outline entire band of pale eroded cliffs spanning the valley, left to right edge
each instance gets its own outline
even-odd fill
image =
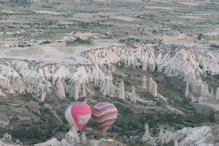
[[[93,64],[74,65],[64,63],[37,63],[17,59],[0,61],[0,95],[29,93],[45,100],[47,94],[55,89],[60,98],[74,97],[77,84],[79,96],[81,85],[92,83],[101,87],[105,95],[114,94],[117,87],[112,84],[113,64],[125,63],[126,66],[143,67],[144,70],[159,71],[172,77],[184,78],[186,82],[202,83],[201,75],[206,72],[219,74],[218,50],[199,48],[168,48],[167,46],[109,46],[85,51],[81,56]],[[113,91],[111,91],[113,90]],[[113,92],[113,93],[112,93]],[[84,94],[84,93],[83,93]]]

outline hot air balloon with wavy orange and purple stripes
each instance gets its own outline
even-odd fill
[[[99,102],[92,109],[92,118],[104,133],[115,122],[117,115],[117,108],[109,102]]]

